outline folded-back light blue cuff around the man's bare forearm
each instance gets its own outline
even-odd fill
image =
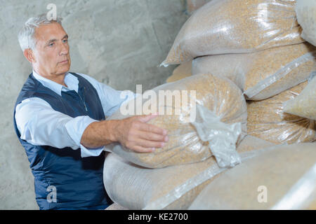
[[[88,125],[93,122],[98,122],[98,120],[94,120],[89,116],[79,116],[77,118],[73,118],[65,124],[65,128],[70,138],[72,138],[72,140],[81,149],[81,158],[98,156],[103,152],[104,146],[100,148],[86,148],[80,144],[82,134],[84,134],[84,130],[86,130],[86,127],[88,127]]]

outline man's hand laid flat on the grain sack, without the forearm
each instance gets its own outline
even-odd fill
[[[139,153],[150,153],[155,148],[162,148],[169,141],[167,131],[147,124],[157,115],[133,116],[120,120],[114,130],[117,141],[123,146]]]

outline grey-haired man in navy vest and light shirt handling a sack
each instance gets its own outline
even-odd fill
[[[70,73],[60,18],[30,18],[18,39],[33,71],[18,96],[15,131],[29,159],[40,209],[105,209],[103,148],[112,142],[150,153],[168,141],[147,122],[157,115],[105,120],[126,100],[90,76]],[[80,149],[79,149],[80,148]],[[78,150],[79,149],[79,150]]]

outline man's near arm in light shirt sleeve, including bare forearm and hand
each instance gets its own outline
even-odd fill
[[[72,118],[35,97],[25,99],[15,109],[21,139],[36,146],[81,148],[82,157],[96,156],[103,151],[103,146],[112,142],[139,152],[162,147],[161,139],[166,138],[166,131],[146,123],[154,117],[103,121],[88,116]]]

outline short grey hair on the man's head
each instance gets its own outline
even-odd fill
[[[32,17],[25,22],[25,25],[20,29],[18,34],[18,40],[20,47],[24,52],[25,49],[34,50],[36,42],[34,39],[35,29],[43,24],[51,24],[52,22],[58,22],[61,25],[62,18],[56,18],[56,20],[48,20],[46,14],[41,14],[37,17]]]

